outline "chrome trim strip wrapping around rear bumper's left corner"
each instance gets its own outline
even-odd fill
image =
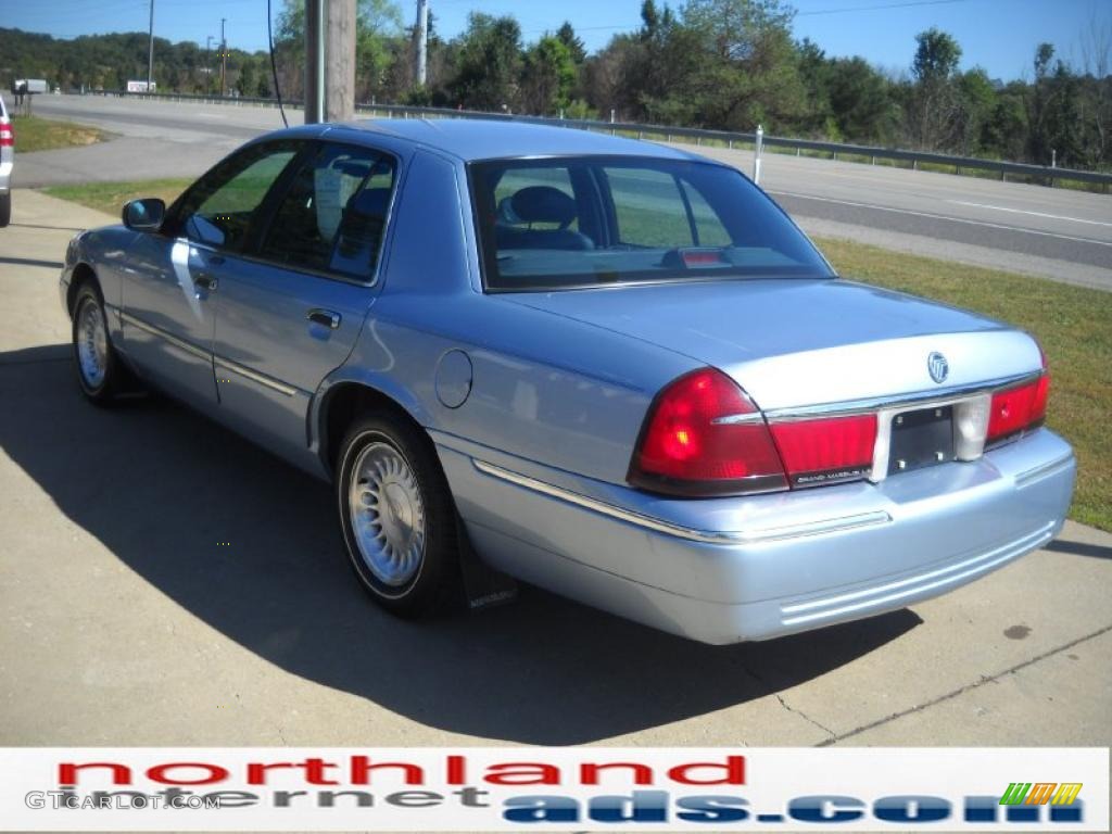
[[[801,538],[803,536],[816,536],[824,533],[836,533],[858,527],[871,527],[877,524],[887,524],[892,520],[892,516],[884,510],[876,510],[873,513],[861,513],[854,516],[843,516],[841,518],[824,518],[818,522],[793,524],[784,527],[767,527],[763,529],[732,532],[699,530],[672,524],[641,513],[634,513],[628,509],[622,509],[620,507],[615,507],[613,504],[606,504],[605,502],[596,500],[595,498],[588,498],[585,495],[579,495],[578,493],[573,493],[570,490],[553,486],[552,484],[546,484],[543,480],[530,478],[527,475],[519,475],[518,473],[510,471],[509,469],[503,469],[500,466],[488,464],[487,461],[479,460],[478,458],[473,458],[471,464],[484,475],[489,475],[494,478],[498,478],[499,480],[539,493],[540,495],[546,495],[550,498],[566,502],[567,504],[574,504],[577,507],[583,507],[584,509],[589,509],[594,513],[598,513],[599,515],[616,518],[619,522],[626,522],[627,524],[633,524],[637,527],[653,530],[654,533],[663,533],[666,536],[674,536],[688,542],[699,542],[702,544],[748,545],[761,544],[764,542],[781,542],[790,538]]]

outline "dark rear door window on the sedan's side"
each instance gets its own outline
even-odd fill
[[[395,171],[391,157],[369,148],[321,145],[291,178],[259,254],[294,268],[369,280]]]

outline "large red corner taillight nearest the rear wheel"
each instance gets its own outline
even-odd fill
[[[713,368],[679,377],[656,398],[642,428],[629,481],[682,495],[787,487],[761,411],[729,377]]]

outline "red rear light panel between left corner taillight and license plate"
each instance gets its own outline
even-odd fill
[[[868,475],[876,445],[876,415],[774,423],[772,436],[792,486]]]

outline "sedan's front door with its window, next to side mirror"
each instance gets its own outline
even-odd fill
[[[219,282],[235,266],[264,198],[306,142],[249,146],[201,177],[157,235],[129,251],[122,297],[128,356],[158,385],[216,407],[212,336]]]

